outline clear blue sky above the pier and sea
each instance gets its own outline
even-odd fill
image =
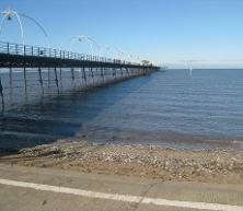
[[[243,67],[242,0],[0,0],[8,8],[38,21],[51,47],[70,49],[71,37],[85,35],[171,67]],[[34,22],[22,21],[25,43],[46,46]],[[16,19],[4,22],[0,40],[22,42]],[[84,42],[72,48],[90,50]]]

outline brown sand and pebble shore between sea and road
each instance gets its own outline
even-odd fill
[[[162,180],[243,184],[243,152],[230,149],[174,150],[66,140],[23,149],[0,162]]]

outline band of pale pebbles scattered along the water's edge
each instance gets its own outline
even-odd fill
[[[99,148],[101,146],[101,148]],[[143,167],[161,168],[172,173],[173,177],[184,178],[189,175],[243,175],[243,152],[232,150],[186,151],[163,149],[154,145],[89,144],[83,142],[57,142],[20,151],[22,156],[106,162],[123,165],[137,164]],[[154,171],[157,172],[157,171]],[[143,175],[141,173],[141,175]]]

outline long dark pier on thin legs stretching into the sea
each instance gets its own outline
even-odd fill
[[[78,54],[61,49],[53,49],[23,44],[0,42],[0,98],[4,110],[4,89],[2,71],[9,74],[8,84],[14,84],[13,70],[22,73],[22,85],[27,92],[27,74],[34,71],[38,78],[42,93],[45,84],[55,82],[57,93],[62,91],[63,72],[69,74],[70,83],[79,80],[79,87],[86,90],[105,84],[128,80],[139,75],[147,75],[160,68],[151,63],[138,63],[101,56]],[[44,73],[45,72],[45,73]],[[44,74],[47,73],[47,79]],[[67,79],[66,79],[67,80]],[[20,80],[19,80],[20,81]],[[77,87],[77,85],[76,85]]]

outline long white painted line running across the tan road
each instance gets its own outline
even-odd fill
[[[34,183],[9,180],[9,179],[0,179],[0,184],[8,185],[8,186],[31,188],[35,190],[68,194],[68,195],[76,195],[76,196],[97,198],[97,199],[108,199],[108,200],[116,200],[116,201],[124,201],[124,202],[178,207],[178,208],[188,208],[188,209],[198,209],[198,210],[243,211],[242,206],[193,202],[193,201],[177,201],[177,200],[167,200],[167,199],[159,199],[159,198],[147,198],[147,197],[140,197],[140,196],[95,192],[95,191],[83,190],[83,189],[49,186],[49,185],[43,185],[43,184],[34,184]]]

